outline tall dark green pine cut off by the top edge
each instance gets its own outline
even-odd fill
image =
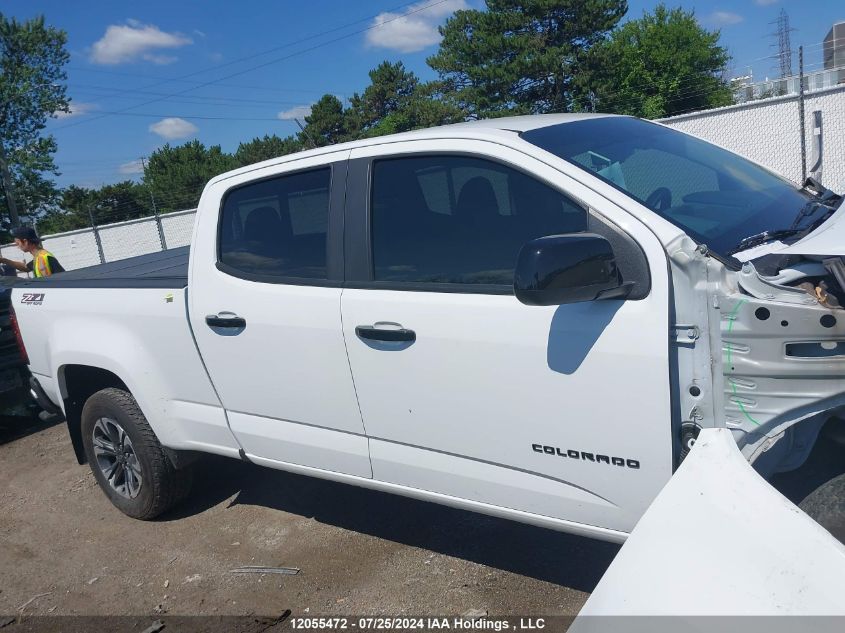
[[[628,10],[625,0],[486,0],[440,27],[428,64],[471,117],[566,112],[590,49]]]

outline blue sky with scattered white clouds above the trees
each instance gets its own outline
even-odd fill
[[[626,19],[656,2],[629,0]],[[65,29],[74,113],[52,120],[61,186],[136,178],[140,157],[166,142],[197,138],[233,151],[241,141],[297,130],[294,115],[324,93],[341,98],[367,85],[367,71],[401,60],[423,79],[437,47],[436,27],[456,8],[482,0],[308,0],[86,2],[5,0],[18,19],[44,14]],[[709,28],[720,28],[734,75],[775,76],[775,27],[789,14],[792,47],[821,66],[821,41],[845,20],[842,0],[681,0]],[[399,8],[401,6],[401,8]],[[402,19],[403,13],[412,11]],[[797,54],[793,66],[797,71]],[[208,85],[203,85],[208,83]],[[180,93],[180,94],[176,94]],[[169,96],[170,95],[170,96]],[[150,102],[150,103],[145,103]]]

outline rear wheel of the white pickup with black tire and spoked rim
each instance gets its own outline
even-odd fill
[[[103,389],[88,398],[81,430],[94,478],[124,514],[153,519],[190,492],[192,470],[173,467],[135,398],[126,391]]]

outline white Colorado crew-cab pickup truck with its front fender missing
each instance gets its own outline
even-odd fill
[[[621,542],[702,429],[764,478],[842,445],[841,201],[635,118],[502,118],[223,174],[190,256],[13,304],[130,516],[215,453]],[[840,539],[844,491],[805,504]]]

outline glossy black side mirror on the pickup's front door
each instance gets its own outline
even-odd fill
[[[633,285],[622,283],[610,242],[595,233],[570,233],[541,237],[523,246],[513,289],[526,305],[551,306],[624,299]]]

